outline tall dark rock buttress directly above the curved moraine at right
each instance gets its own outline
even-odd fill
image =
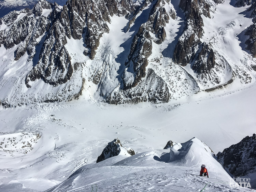
[[[223,3],[223,1],[214,1],[214,3]],[[216,55],[211,44],[200,40],[204,34],[202,15],[211,18],[210,13],[216,9],[214,3],[206,0],[180,1],[179,6],[185,13],[186,24],[173,53],[173,62],[182,67],[190,64],[195,73],[193,75],[196,79],[200,79],[200,83],[206,87],[218,86],[221,83],[223,76],[223,74],[219,74],[221,70],[225,75],[230,75],[232,72],[225,58],[219,54]]]

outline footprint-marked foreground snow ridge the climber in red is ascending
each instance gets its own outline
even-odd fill
[[[118,156],[112,157],[79,168],[47,191],[253,191],[238,185],[231,189],[231,177],[199,139],[190,139],[180,146],[181,159],[176,157],[168,162],[165,156],[170,153],[159,156],[156,151],[124,157],[121,161]],[[199,176],[202,163],[207,165],[210,178]]]

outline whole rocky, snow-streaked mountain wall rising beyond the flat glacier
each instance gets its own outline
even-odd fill
[[[252,1],[45,0],[0,20],[4,106],[165,103],[255,83]],[[84,91],[83,91],[84,90]]]

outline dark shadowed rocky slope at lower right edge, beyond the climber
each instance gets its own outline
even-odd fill
[[[218,160],[235,177],[251,178],[256,188],[256,135],[245,137],[241,142],[218,152]]]

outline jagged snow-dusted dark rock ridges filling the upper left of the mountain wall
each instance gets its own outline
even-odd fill
[[[110,16],[127,14],[133,10],[129,1],[122,2],[125,7],[115,0],[69,0],[60,10],[56,3],[40,0],[32,10],[23,11],[26,15],[18,22],[14,22],[18,12],[1,19],[5,24],[13,24],[10,30],[0,31],[0,44],[6,49],[19,45],[14,51],[15,60],[19,60],[26,52],[31,60],[35,55],[35,46],[39,43],[37,38],[46,33],[39,59],[34,61],[37,63],[26,77],[26,85],[29,88],[36,79],[54,86],[66,83],[73,73],[71,58],[65,48],[66,37],[81,39],[84,35],[88,50],[85,54],[93,59],[100,37],[109,31],[106,22],[110,22]],[[51,13],[43,16],[43,10],[47,9]]]

